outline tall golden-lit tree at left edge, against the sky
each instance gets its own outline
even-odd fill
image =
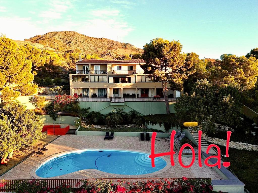
[[[23,49],[5,37],[0,37],[0,91],[4,101],[36,92],[31,73],[32,62],[26,58]]]

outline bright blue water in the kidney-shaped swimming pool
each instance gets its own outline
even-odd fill
[[[151,166],[148,154],[122,150],[84,150],[60,155],[43,163],[36,170],[42,178],[60,176],[78,170],[97,169],[102,172],[141,175],[156,172],[166,166],[162,158],[155,158]]]

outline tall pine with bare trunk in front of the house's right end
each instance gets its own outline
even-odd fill
[[[191,74],[189,70],[196,62],[195,53],[181,53],[182,45],[179,41],[168,41],[156,38],[146,43],[143,48],[142,58],[146,64],[141,65],[145,74],[151,74],[155,82],[162,82],[163,95],[167,113],[170,113],[168,105],[168,86],[172,90],[182,90],[183,80]]]

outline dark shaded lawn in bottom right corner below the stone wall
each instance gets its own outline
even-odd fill
[[[226,147],[220,146],[221,153],[225,155]],[[222,157],[230,162],[229,168],[241,180],[250,193],[258,189],[258,151],[237,150],[229,148],[229,157]]]

